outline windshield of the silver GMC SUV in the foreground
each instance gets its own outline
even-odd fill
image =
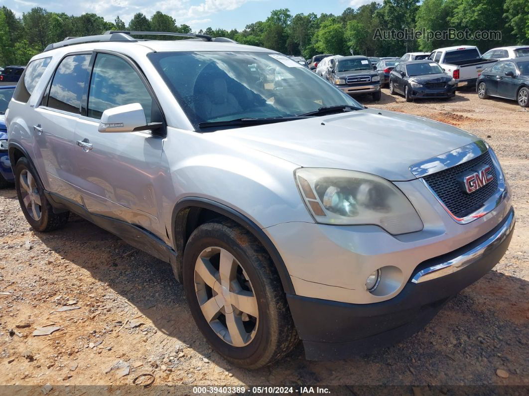
[[[295,117],[327,106],[363,108],[278,53],[154,52],[148,57],[195,127],[238,118]]]

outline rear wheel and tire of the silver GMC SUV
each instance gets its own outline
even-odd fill
[[[31,227],[44,233],[65,226],[70,212],[53,213],[53,208],[44,195],[44,187],[28,159],[19,159],[13,171],[16,195],[22,213]]]

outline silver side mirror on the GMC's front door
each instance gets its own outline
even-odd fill
[[[157,129],[161,123],[147,124],[143,107],[139,103],[131,103],[106,109],[97,130],[104,133],[135,132]]]

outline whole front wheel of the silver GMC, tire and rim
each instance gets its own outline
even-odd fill
[[[285,292],[268,253],[231,220],[213,220],[191,234],[183,283],[200,332],[232,364],[258,369],[297,344]]]

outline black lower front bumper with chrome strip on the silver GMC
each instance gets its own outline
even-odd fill
[[[514,224],[510,209],[500,224],[476,241],[419,264],[402,291],[387,301],[352,304],[287,294],[306,357],[348,358],[413,335],[455,294],[498,263]]]

